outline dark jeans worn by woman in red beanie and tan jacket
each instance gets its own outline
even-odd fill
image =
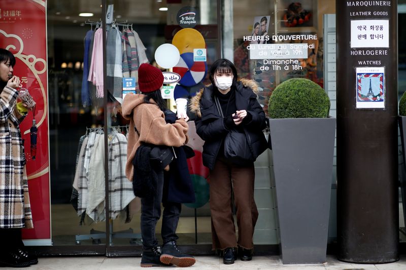
[[[141,236],[143,248],[150,249],[158,246],[155,237],[155,227],[161,216],[161,201],[163,191],[163,172],[157,172],[158,184],[157,195],[148,198],[141,198]],[[178,240],[176,228],[178,227],[181,204],[163,203],[161,236],[163,244]]]

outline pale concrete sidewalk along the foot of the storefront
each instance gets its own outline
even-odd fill
[[[288,269],[288,270],[405,270],[406,256],[400,260],[385,264],[355,264],[341,262],[335,256],[327,256],[327,262],[323,264],[294,264],[283,265],[278,256],[254,256],[252,261],[236,260],[234,264],[225,265],[218,256],[196,256],[196,263],[183,269],[209,270],[209,269],[233,269],[233,270],[259,270],[259,269]],[[26,269],[148,269],[140,267],[141,257],[53,257],[39,258],[39,263]],[[153,269],[175,269],[176,266],[154,267]],[[6,269],[6,268],[2,268]],[[15,268],[12,268],[15,269]]]

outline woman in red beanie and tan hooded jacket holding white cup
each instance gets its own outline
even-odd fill
[[[163,84],[162,72],[150,65],[142,64],[138,70],[138,83],[142,94],[127,94],[123,100],[123,117],[130,120],[127,145],[126,176],[132,181],[134,175],[133,159],[137,149],[143,144],[180,147],[187,143],[188,124],[180,118],[174,124],[166,124],[165,102],[160,89]],[[137,153],[137,157],[139,157]],[[149,162],[147,157],[145,162]],[[156,171],[156,170],[155,170]],[[161,236],[163,246],[158,251],[155,226],[160,218],[163,192],[163,171],[156,171],[157,184],[154,194],[141,198],[141,235],[143,255],[141,267],[166,266],[175,264],[180,267],[195,263],[192,256],[183,254],[177,244],[176,228],[181,211],[181,203],[164,202]],[[138,176],[137,176],[138,177]]]

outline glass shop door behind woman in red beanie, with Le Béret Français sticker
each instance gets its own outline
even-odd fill
[[[187,63],[187,70],[184,70],[186,76],[190,76],[194,71],[196,71],[197,76],[186,83],[165,83],[161,93],[162,97],[166,101],[167,107],[176,112],[175,99],[177,97],[187,99],[202,88],[204,83],[209,82],[207,79],[208,68],[219,57],[217,49],[217,1],[128,1],[123,4],[108,0],[106,7],[111,16],[110,23],[107,21],[106,45],[110,207],[108,220],[110,247],[108,254],[140,255],[142,248],[141,202],[140,198],[134,198],[132,184],[125,177],[126,135],[129,121],[121,115],[121,102],[125,95],[140,93],[138,68],[142,63],[149,63],[163,72],[179,73],[178,62],[180,63],[185,59],[187,59],[186,61],[193,60],[193,57],[190,57],[193,55],[193,48],[205,49],[207,52],[207,59],[197,65],[198,70],[193,70],[196,66],[192,68],[193,63],[189,62]],[[181,20],[189,20],[188,27],[180,26]],[[118,41],[116,45],[111,42],[113,38],[117,37],[118,39],[119,36],[121,37],[121,47]],[[134,38],[137,41],[135,47],[132,44]],[[198,40],[197,43],[196,39]],[[171,45],[172,49],[175,48],[179,51],[176,63],[171,66],[166,66],[164,62],[174,61],[173,55],[164,49],[161,50],[162,45]],[[120,49],[123,48],[121,51],[123,62],[121,73],[115,73],[109,67],[111,64],[109,55],[113,55],[119,47]],[[186,49],[187,47],[189,48]],[[130,57],[131,55],[132,57]],[[182,74],[182,76],[184,75]],[[110,84],[111,82],[114,83]],[[202,166],[202,141],[194,131],[193,121],[189,121],[189,127],[189,142],[195,142],[195,145],[191,146],[200,153],[188,161],[191,179],[195,187],[196,201],[182,204],[177,227],[178,244],[180,246],[186,245],[188,246],[187,249],[193,249],[194,252],[199,249],[196,248],[196,244],[198,246],[206,244],[205,252],[210,253],[211,248],[208,246],[211,244],[208,170]],[[121,152],[119,152],[120,150]],[[117,170],[116,166],[119,166],[120,170]],[[161,222],[162,218],[156,226],[156,237],[160,245],[162,245]]]

